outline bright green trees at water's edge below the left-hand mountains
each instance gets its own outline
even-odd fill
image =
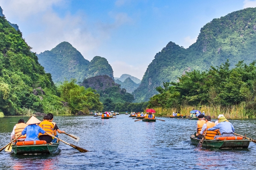
[[[96,90],[91,88],[85,89],[75,83],[76,80],[72,79],[70,82],[64,81],[59,86],[61,99],[68,102],[71,112],[75,114],[78,111],[85,110],[102,110],[103,105],[99,101],[99,94],[95,94]]]

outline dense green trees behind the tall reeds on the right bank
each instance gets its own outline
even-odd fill
[[[178,83],[163,83],[157,87],[160,93],[149,101],[149,107],[233,106],[244,103],[254,112],[256,99],[256,62],[247,65],[243,61],[230,69],[229,60],[209,71],[194,70],[179,78]]]

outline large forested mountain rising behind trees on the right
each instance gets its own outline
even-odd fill
[[[185,70],[208,70],[229,59],[231,68],[239,60],[246,64],[256,59],[256,8],[246,8],[213,19],[201,28],[196,43],[184,49],[170,42],[149,64],[140,86],[133,92],[135,101],[148,101],[163,82],[177,82]]]

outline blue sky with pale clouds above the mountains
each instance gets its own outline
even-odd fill
[[[214,18],[256,0],[0,0],[8,21],[39,54],[67,41],[85,59],[108,60],[114,77],[142,79],[170,41],[188,48]]]

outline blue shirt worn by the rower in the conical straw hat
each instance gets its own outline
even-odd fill
[[[22,131],[22,135],[27,134],[25,141],[39,141],[38,134],[44,134],[45,131],[36,124],[30,124]]]

